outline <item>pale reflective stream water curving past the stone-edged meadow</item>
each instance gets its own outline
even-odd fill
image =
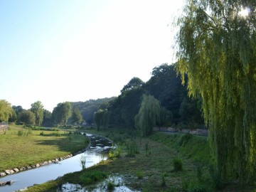
[[[104,137],[97,135],[87,134],[87,137],[90,137],[91,145],[85,152],[72,156],[69,159],[59,161],[58,164],[47,164],[36,169],[30,169],[0,178],[0,181],[14,181],[11,186],[0,186],[0,191],[17,191],[28,186],[33,186],[34,184],[41,184],[46,181],[54,180],[64,174],[80,171],[82,169],[80,165],[81,156],[86,156],[86,167],[93,166],[100,161],[107,159],[106,154],[112,147],[112,143]]]

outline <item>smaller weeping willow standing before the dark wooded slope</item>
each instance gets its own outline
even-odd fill
[[[134,117],[135,127],[140,135],[145,137],[153,131],[154,125],[160,121],[161,107],[159,101],[152,95],[142,95],[142,105]]]

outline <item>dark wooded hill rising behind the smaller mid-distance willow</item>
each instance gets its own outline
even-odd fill
[[[73,102],[72,105],[78,107],[88,124],[93,122],[94,113],[100,110],[107,115],[105,126],[134,129],[134,117],[139,112],[143,94],[154,96],[167,111],[167,119],[159,126],[191,129],[203,126],[201,101],[188,97],[186,85],[182,85],[181,77],[176,75],[175,65],[166,63],[154,68],[147,82],[132,78],[118,97]]]

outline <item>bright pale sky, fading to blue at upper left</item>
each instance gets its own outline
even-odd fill
[[[174,0],[0,0],[0,100],[85,102],[120,95],[174,63]]]

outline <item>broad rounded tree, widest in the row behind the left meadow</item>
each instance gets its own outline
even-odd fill
[[[66,125],[68,118],[72,114],[72,106],[70,102],[60,102],[53,109],[53,119],[56,124]]]

